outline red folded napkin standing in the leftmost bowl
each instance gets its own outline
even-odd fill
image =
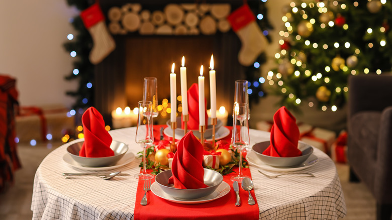
[[[82,115],[84,131],[83,146],[79,151],[80,157],[110,157],[114,152],[110,149],[112,136],[105,129],[105,121],[100,112],[89,107]]]

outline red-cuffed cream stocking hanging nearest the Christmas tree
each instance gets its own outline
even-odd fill
[[[238,61],[241,65],[250,66],[257,56],[265,50],[267,39],[256,24],[256,18],[246,4],[231,13],[227,20],[242,43],[241,50],[238,53]]]

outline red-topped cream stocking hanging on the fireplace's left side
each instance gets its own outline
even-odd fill
[[[105,25],[105,17],[98,3],[80,13],[84,27],[91,34],[93,46],[89,60],[92,64],[100,63],[115,48],[116,44]]]

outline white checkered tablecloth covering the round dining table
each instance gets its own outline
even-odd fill
[[[110,131],[110,134],[114,140],[128,144],[129,151],[136,155],[142,148],[135,143],[135,132],[136,128],[126,128]],[[250,138],[252,146],[269,140],[269,133],[251,129]],[[73,168],[63,161],[70,144],[51,152],[37,169],[31,204],[33,219],[133,219],[138,184],[133,175],[140,171],[140,160],[135,159],[114,170],[100,171],[122,171],[131,176],[112,180],[94,176],[65,179],[64,172],[95,172]],[[285,175],[268,179],[257,172],[258,167],[250,165],[259,219],[337,219],[345,216],[346,205],[336,167],[322,151],[315,149],[314,154],[319,162],[305,171],[313,173],[315,178]]]

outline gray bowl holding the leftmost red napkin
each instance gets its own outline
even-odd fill
[[[85,167],[106,167],[115,165],[128,151],[128,145],[119,141],[112,141],[110,148],[115,155],[110,157],[80,157],[79,151],[84,140],[75,142],[67,147],[67,152],[76,163]]]

